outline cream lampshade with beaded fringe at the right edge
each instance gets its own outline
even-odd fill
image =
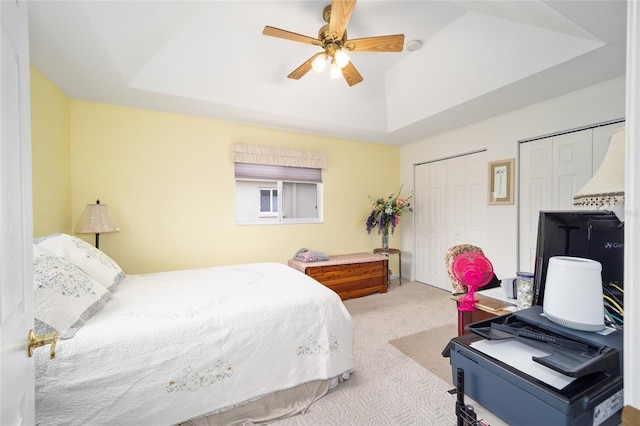
[[[612,210],[618,218],[624,214],[624,144],[625,128],[621,127],[611,134],[600,168],[573,196],[574,206]]]

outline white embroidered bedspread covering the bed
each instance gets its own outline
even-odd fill
[[[36,423],[171,425],[350,372],[352,344],[340,297],[282,264],[128,276],[36,351]]]

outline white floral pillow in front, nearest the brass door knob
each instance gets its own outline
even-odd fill
[[[33,245],[35,331],[68,339],[111,298],[111,293],[71,262]]]

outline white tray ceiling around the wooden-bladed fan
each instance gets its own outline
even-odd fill
[[[325,1],[29,1],[31,62],[73,99],[401,145],[625,73],[626,2],[360,0],[353,87],[311,71]]]

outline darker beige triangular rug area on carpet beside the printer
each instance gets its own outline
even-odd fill
[[[456,324],[445,324],[390,340],[389,343],[445,382],[453,385],[449,358],[443,357],[442,351],[457,335]]]

